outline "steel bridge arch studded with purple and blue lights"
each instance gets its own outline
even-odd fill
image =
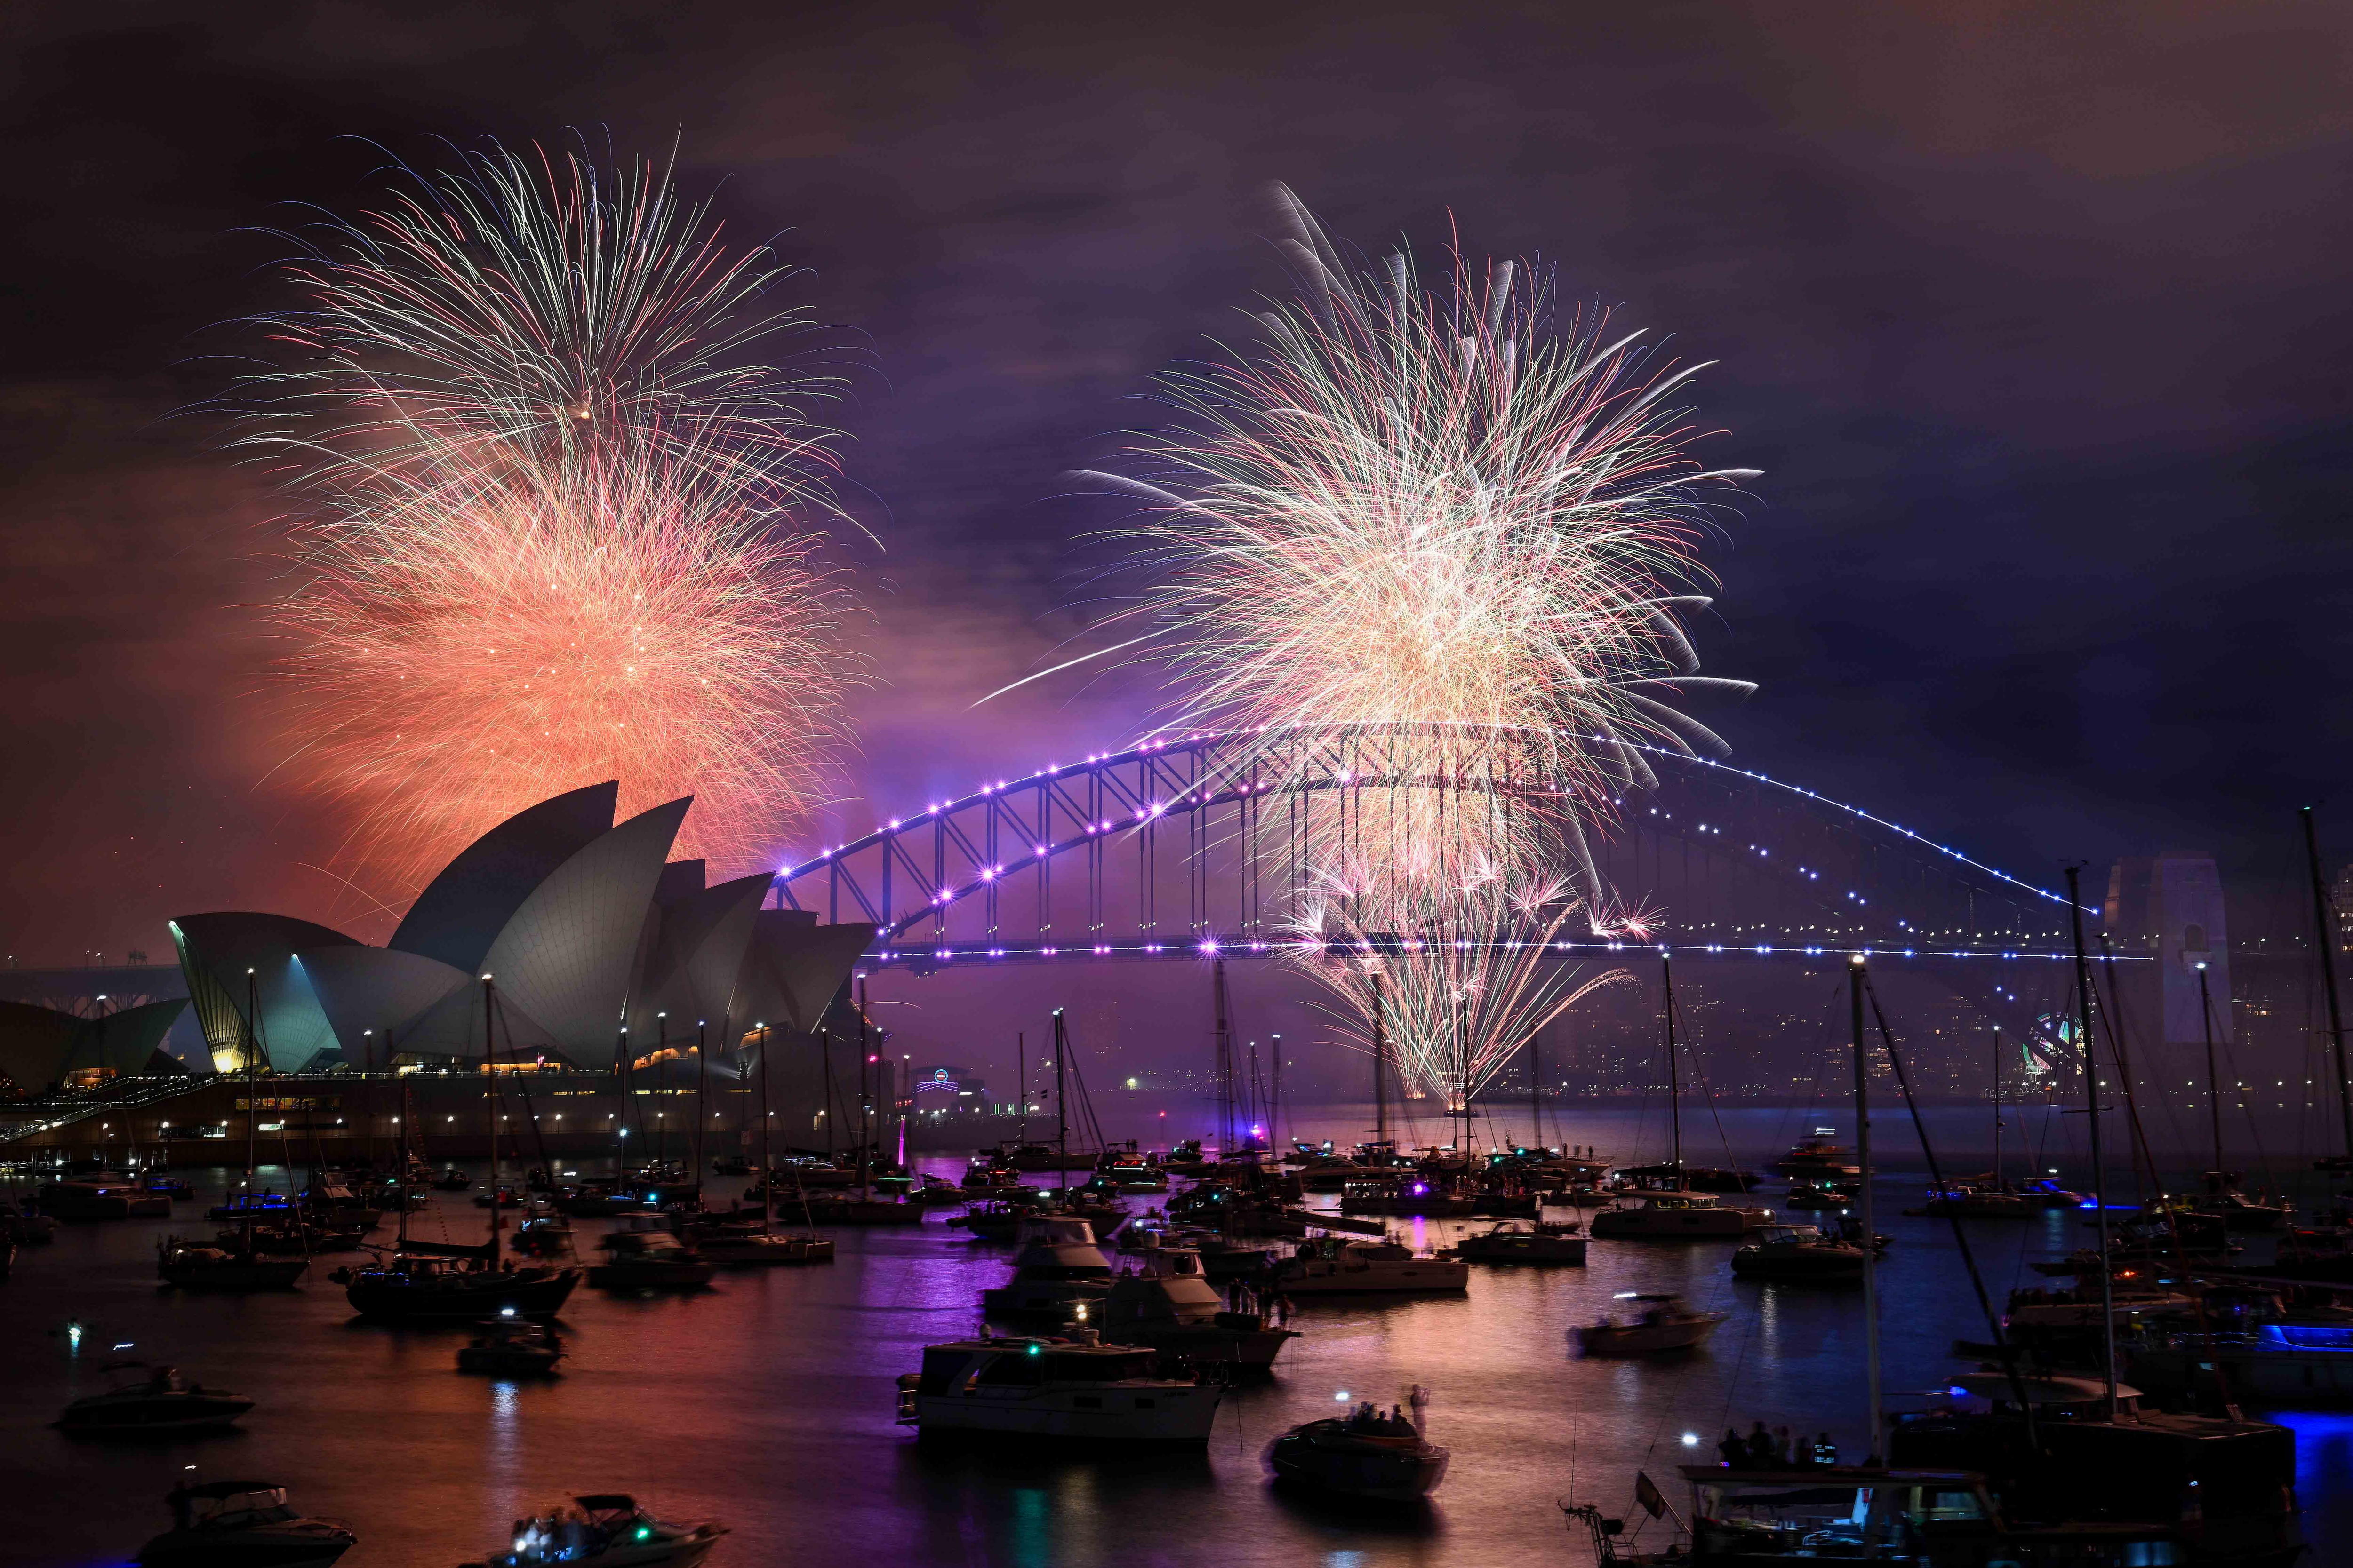
[[[1266,766],[1264,736],[1235,731],[1049,764],[788,865],[776,900],[873,922],[868,961],[913,971],[1299,947],[1285,912],[1308,875],[1315,813],[1327,832],[1362,832],[1379,816],[1367,802],[1407,788],[1438,790],[1457,811],[1560,804],[1558,785],[1497,762],[1475,726],[1447,726],[1435,748],[1412,733],[1409,771],[1393,745],[1402,733],[1301,733],[1282,766]],[[1612,802],[1617,823],[1591,837],[1588,867],[1614,907],[1659,910],[1664,924],[1558,940],[1562,957],[2064,957],[2059,893],[1814,790],[1640,750],[1657,783]]]

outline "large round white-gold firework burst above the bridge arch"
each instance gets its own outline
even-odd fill
[[[1475,750],[1544,780],[1553,806],[1480,849],[1534,872],[1654,783],[1631,741],[1725,750],[1675,698],[1751,686],[1697,675],[1680,614],[1708,602],[1704,494],[1746,470],[1685,454],[1689,371],[1602,322],[1551,331],[1513,263],[1426,292],[1405,254],[1351,273],[1294,214],[1301,299],[1254,350],[1162,378],[1188,428],[1139,444],[1158,482],[1094,475],[1148,503],[1127,541],[1151,585],[1101,625],[1141,625],[1125,658],[1162,665],[1167,729],[1264,736],[1238,771],[1280,773],[1299,731],[1421,731],[1407,773]]]

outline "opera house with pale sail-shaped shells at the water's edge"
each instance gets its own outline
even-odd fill
[[[873,926],[765,910],[765,872],[706,886],[701,860],[668,858],[692,799],[624,823],[616,802],[600,783],[499,823],[384,947],[287,914],[174,919],[212,1067],[480,1060],[482,976],[499,1063],[612,1070],[699,1037],[720,1048],[762,1025],[819,1027]]]

